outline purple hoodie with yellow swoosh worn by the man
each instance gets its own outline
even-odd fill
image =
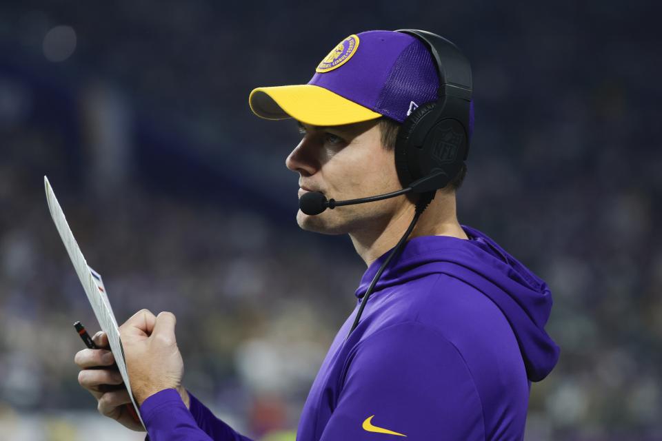
[[[421,236],[382,274],[388,252],[361,279],[305,401],[297,441],[521,440],[530,384],[550,373],[559,347],[544,330],[552,308],[543,280],[477,229],[470,240]],[[173,389],[141,414],[153,441],[248,440]]]

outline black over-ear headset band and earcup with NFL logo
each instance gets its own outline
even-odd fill
[[[439,73],[437,101],[419,106],[405,119],[395,145],[395,165],[402,186],[436,174],[434,182],[425,188],[430,192],[448,185],[469,154],[471,66],[456,45],[437,34],[415,29],[396,32],[422,41]],[[434,198],[434,191],[430,196]]]

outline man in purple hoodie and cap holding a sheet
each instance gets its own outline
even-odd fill
[[[285,161],[300,176],[299,196],[321,192],[344,201],[403,187],[394,161],[396,133],[417,107],[437,99],[437,72],[417,37],[362,32],[337,45],[308,85],[258,88],[249,101],[259,116],[299,121],[303,138]],[[349,234],[368,265],[357,307],[312,384],[297,440],[523,438],[531,381],[545,378],[559,356],[543,329],[551,293],[488,236],[458,223],[455,191],[465,170],[437,190],[422,214],[421,194],[297,213],[303,229]],[[403,236],[412,218],[418,222]],[[369,289],[370,301],[362,301]],[[363,314],[354,327],[357,310]],[[174,322],[170,313],[154,317],[143,310],[121,327],[134,397],[151,439],[248,440],[181,386]],[[100,345],[103,338],[95,336]],[[108,351],[77,354],[84,369],[79,382],[99,400],[101,413],[137,429],[121,407],[130,401],[126,391],[99,389],[121,378],[86,369],[110,365],[112,355],[103,356]]]

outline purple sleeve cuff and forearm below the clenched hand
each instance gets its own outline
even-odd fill
[[[219,420],[192,393],[186,409],[175,389],[148,397],[140,407],[150,441],[252,441]]]

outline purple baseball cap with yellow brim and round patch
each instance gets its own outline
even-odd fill
[[[319,63],[308,84],[257,88],[248,103],[265,119],[343,125],[388,116],[399,123],[437,100],[439,75],[425,43],[402,32],[352,34]]]

